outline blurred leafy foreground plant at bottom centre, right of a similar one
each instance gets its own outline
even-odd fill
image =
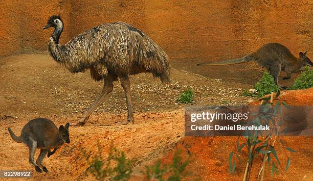
[[[181,151],[176,151],[174,153],[172,163],[162,164],[161,160],[151,166],[146,166],[146,178],[148,180],[164,180],[167,177],[167,180],[181,180],[182,176],[186,172],[186,167],[189,164],[189,161],[182,161]]]

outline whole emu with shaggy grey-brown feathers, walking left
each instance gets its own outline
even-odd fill
[[[104,81],[102,92],[94,104],[74,125],[84,125],[99,102],[113,90],[113,82],[121,82],[127,104],[127,120],[134,123],[130,98],[129,75],[152,73],[162,82],[170,81],[170,65],[164,50],[145,33],[125,22],[98,25],[74,37],[64,45],[59,44],[63,31],[60,16],[53,15],[43,29],[53,27],[48,41],[50,56],[72,73],[90,69],[95,81]]]

